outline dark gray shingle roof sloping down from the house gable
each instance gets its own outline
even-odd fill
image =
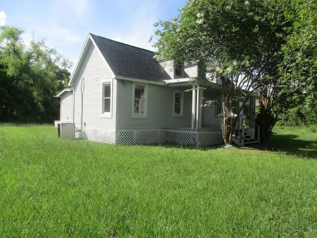
[[[152,81],[170,79],[153,58],[154,52],[90,35],[115,75]]]

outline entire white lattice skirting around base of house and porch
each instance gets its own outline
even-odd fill
[[[106,130],[93,127],[76,127],[76,138],[109,144],[163,144],[166,142],[207,146],[222,144],[221,131],[197,131],[178,129],[156,130]]]

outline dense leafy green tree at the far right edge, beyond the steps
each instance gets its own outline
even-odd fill
[[[279,119],[294,120],[288,124],[295,124],[294,112],[297,112],[298,119],[305,121],[299,111],[307,112],[307,106],[314,108],[316,105],[317,3],[293,0],[285,9],[283,14],[288,25],[280,33],[284,43],[276,53],[280,59],[279,76],[260,88],[258,121],[262,121],[264,138],[272,133]],[[290,110],[292,115],[289,115]]]

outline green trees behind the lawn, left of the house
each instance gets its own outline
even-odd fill
[[[41,40],[26,47],[23,31],[0,28],[0,121],[53,121],[56,93],[67,85],[68,60]]]

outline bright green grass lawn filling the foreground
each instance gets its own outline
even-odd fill
[[[0,237],[315,238],[317,133],[301,130],[287,151],[279,134],[274,149],[198,149],[0,125]]]

